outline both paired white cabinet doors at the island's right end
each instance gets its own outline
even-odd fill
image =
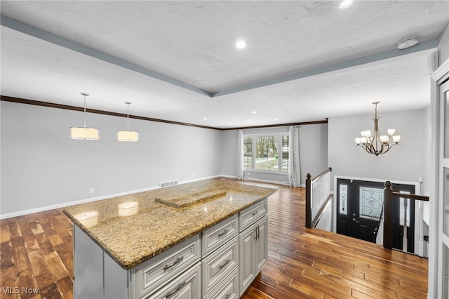
[[[246,291],[268,258],[267,215],[250,225],[239,235],[240,294]]]

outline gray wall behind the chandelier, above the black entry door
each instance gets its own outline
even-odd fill
[[[396,145],[378,157],[356,147],[354,142],[360,131],[373,132],[373,114],[329,119],[328,162],[333,175],[408,182],[424,180],[427,173],[423,163],[424,142],[429,142],[424,140],[424,110],[383,113],[380,107],[381,134],[387,128],[396,128],[401,135],[401,146]]]

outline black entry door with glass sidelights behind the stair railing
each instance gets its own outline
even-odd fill
[[[415,192],[414,185],[394,184],[394,190],[398,192]],[[337,233],[350,237],[375,242],[377,227],[384,204],[384,183],[364,180],[337,179]],[[403,237],[403,213],[401,213],[401,201],[396,200],[394,206],[394,236],[396,241],[394,248],[402,249]],[[415,206],[413,201],[408,201],[408,251],[414,244]],[[402,218],[401,218],[402,216]],[[414,224],[414,223],[413,223]]]

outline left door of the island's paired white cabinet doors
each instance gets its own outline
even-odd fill
[[[243,292],[253,281],[255,275],[253,272],[255,227],[248,227],[240,234],[240,291]]]

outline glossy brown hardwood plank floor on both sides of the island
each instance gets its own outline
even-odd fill
[[[242,298],[427,298],[426,259],[306,229],[304,189],[275,187],[268,263]],[[72,298],[72,251],[62,209],[0,220],[0,298]]]

